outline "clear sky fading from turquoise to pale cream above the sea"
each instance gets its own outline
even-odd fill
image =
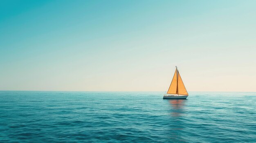
[[[256,92],[255,0],[0,0],[0,90]]]

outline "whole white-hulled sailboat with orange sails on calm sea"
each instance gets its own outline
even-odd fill
[[[186,99],[186,97],[189,96],[188,92],[186,91],[186,88],[183,84],[183,81],[180,77],[179,70],[176,67],[175,73],[173,75],[173,80],[171,82],[171,85],[167,91],[167,93],[164,95],[164,99]]]

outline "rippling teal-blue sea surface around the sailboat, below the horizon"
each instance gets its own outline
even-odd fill
[[[0,91],[1,143],[256,143],[256,92]]]

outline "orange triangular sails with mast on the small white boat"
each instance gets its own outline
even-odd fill
[[[173,75],[173,80],[171,82],[171,85],[167,91],[167,94],[189,95],[188,92],[186,91],[186,88],[183,84],[183,81],[180,77],[180,73],[177,67]]]

